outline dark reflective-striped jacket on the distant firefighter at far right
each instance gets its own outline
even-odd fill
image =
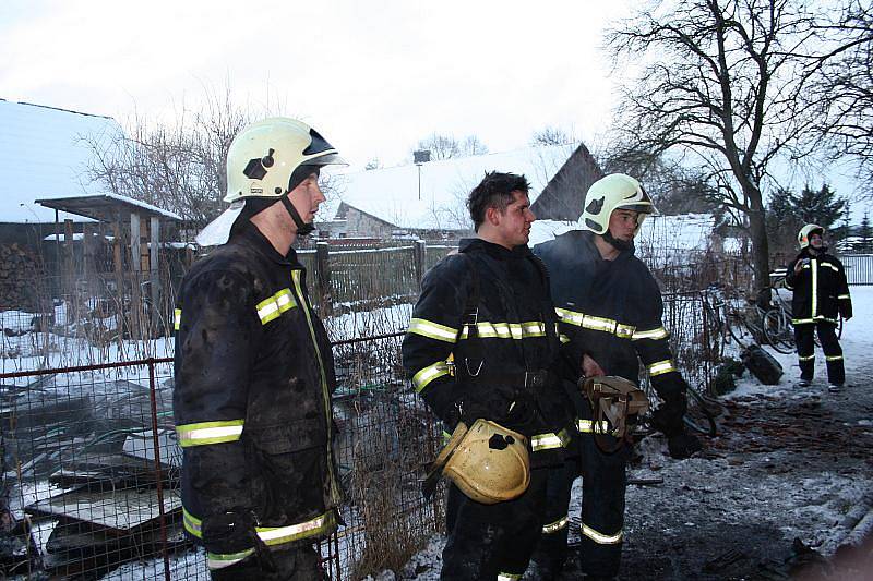
[[[800,273],[794,265],[804,261]],[[806,262],[808,261],[808,262]],[[788,264],[786,287],[793,291],[791,299],[791,323],[804,325],[818,322],[837,324],[837,316],[852,316],[852,300],[846,270],[836,256],[822,253],[816,256],[803,249]]]

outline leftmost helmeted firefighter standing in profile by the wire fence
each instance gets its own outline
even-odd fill
[[[323,579],[335,530],[335,388],[327,335],[291,244],[312,230],[336,149],[300,121],[244,128],[227,155],[220,244],[183,278],[176,310],[176,432],[187,533],[213,579]]]

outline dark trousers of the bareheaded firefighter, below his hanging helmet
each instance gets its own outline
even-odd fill
[[[546,469],[530,471],[530,486],[514,500],[483,505],[449,487],[443,581],[521,579],[537,545],[546,505]]]

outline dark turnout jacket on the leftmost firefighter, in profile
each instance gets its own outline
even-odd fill
[[[184,528],[211,565],[332,532],[333,356],[294,250],[235,234],[182,280],[176,328]]]

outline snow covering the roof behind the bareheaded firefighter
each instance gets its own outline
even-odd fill
[[[575,146],[531,146],[429,161],[420,166],[340,173],[336,175],[340,199],[330,201],[322,215],[335,216],[339,202],[345,202],[398,228],[469,229],[473,225],[465,202],[487,171],[525,174],[530,182],[533,203],[570,158]]]

